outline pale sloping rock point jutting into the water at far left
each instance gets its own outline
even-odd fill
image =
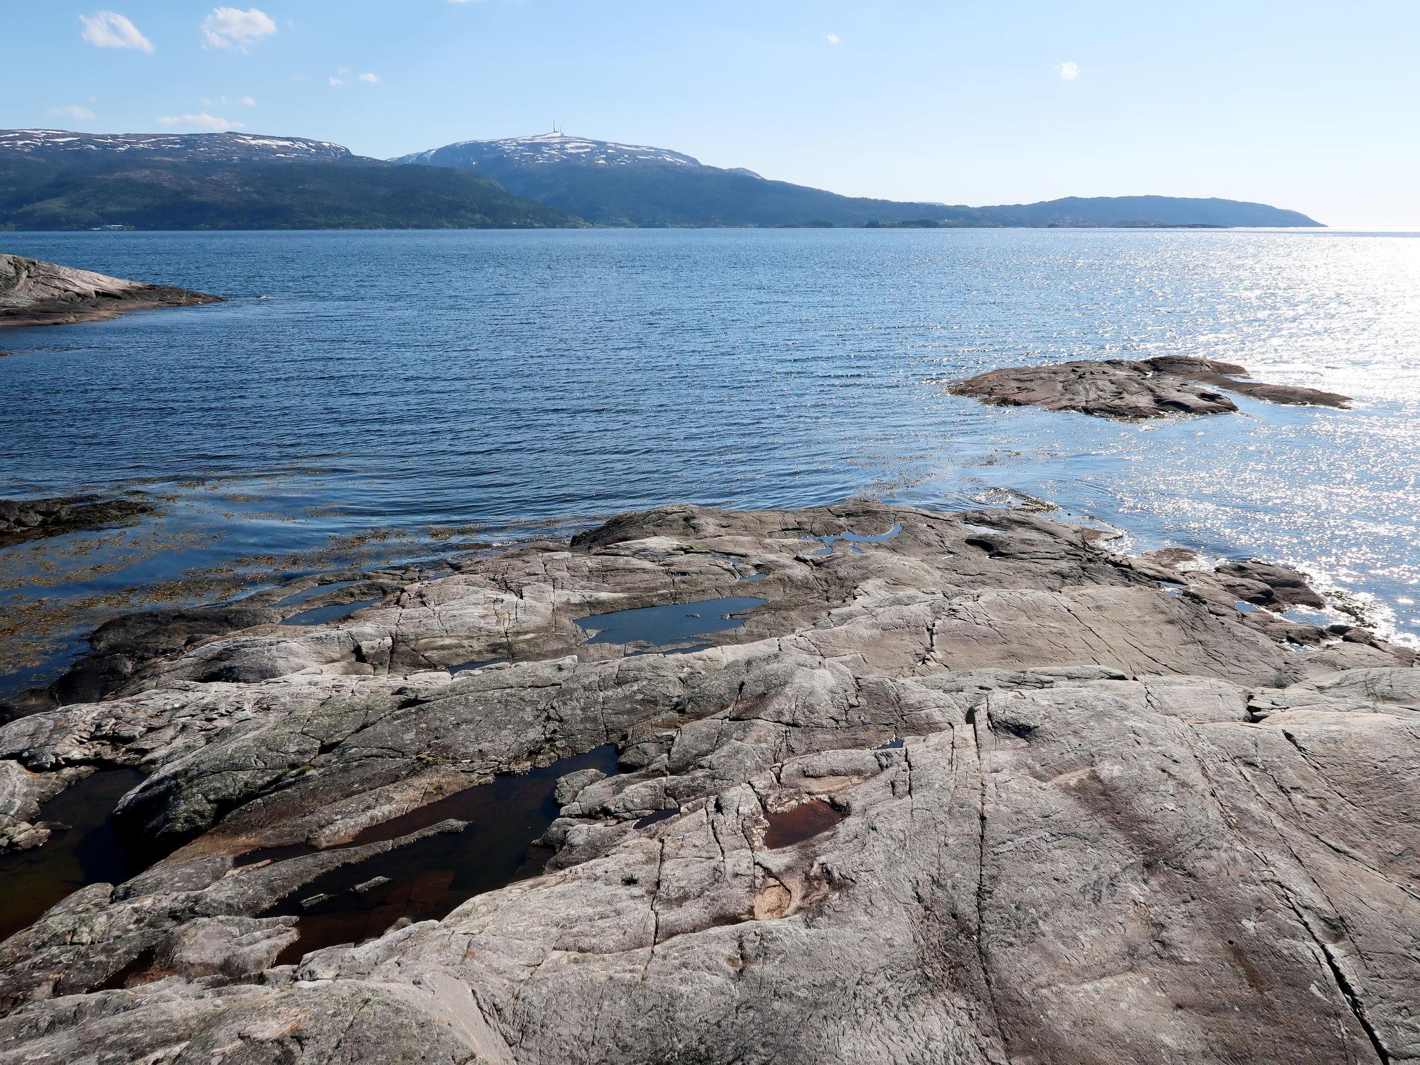
[[[222,297],[0,254],[0,328],[88,322],[152,307],[210,302],[222,302]]]

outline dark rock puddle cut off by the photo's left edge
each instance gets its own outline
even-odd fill
[[[85,885],[142,872],[142,858],[114,834],[114,808],[142,781],[138,770],[99,770],[40,807],[40,821],[70,828],[55,829],[44,846],[0,855],[0,940]]]

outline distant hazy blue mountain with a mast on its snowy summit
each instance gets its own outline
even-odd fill
[[[396,163],[477,170],[508,192],[601,226],[1316,226],[1260,203],[1172,196],[1071,197],[964,207],[839,196],[706,166],[682,152],[554,132],[462,141]]]

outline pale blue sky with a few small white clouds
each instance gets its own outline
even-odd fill
[[[1417,55],[1420,0],[0,0],[0,128],[389,158],[557,122],[859,196],[1414,227]]]

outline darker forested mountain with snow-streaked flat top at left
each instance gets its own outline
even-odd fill
[[[481,173],[396,166],[324,141],[0,131],[0,230],[581,224]]]

